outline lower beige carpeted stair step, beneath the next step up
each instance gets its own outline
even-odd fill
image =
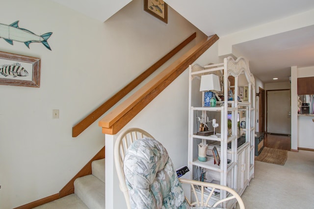
[[[74,193],[89,209],[105,209],[105,183],[94,175],[76,179]]]

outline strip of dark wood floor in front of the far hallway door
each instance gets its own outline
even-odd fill
[[[284,149],[290,151],[290,136],[280,136],[274,134],[266,134],[264,137],[264,146],[274,149]]]

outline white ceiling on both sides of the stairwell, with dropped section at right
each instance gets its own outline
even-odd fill
[[[131,0],[54,1],[105,21]],[[206,35],[217,34],[219,45],[228,43],[230,53],[220,56],[246,57],[263,83],[287,82],[291,66],[314,66],[314,0],[165,2]]]

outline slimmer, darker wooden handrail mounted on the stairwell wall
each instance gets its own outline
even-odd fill
[[[190,43],[196,37],[196,32],[194,32],[191,36],[185,39],[181,44],[172,49],[169,53],[167,53],[164,57],[158,60],[154,65],[145,70],[142,74],[137,76],[134,80],[132,80],[127,86],[121,89],[118,93],[113,95],[104,104],[94,110],[91,114],[86,116],[80,122],[78,122],[72,128],[72,137],[77,137],[80,133],[82,133],[86,128],[88,128],[93,122],[95,122],[100,116],[104,115],[113,105],[115,105],[118,101],[120,101],[125,95],[130,93],[138,84],[144,81],[148,76],[150,76],[155,70],[157,70],[160,66],[162,66],[166,61],[168,61],[171,57],[173,57],[178,51],[180,51],[184,46]]]

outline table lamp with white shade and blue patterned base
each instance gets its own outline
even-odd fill
[[[200,92],[205,92],[204,106],[216,107],[216,97],[215,94],[211,91],[221,91],[219,76],[215,74],[202,75]]]

